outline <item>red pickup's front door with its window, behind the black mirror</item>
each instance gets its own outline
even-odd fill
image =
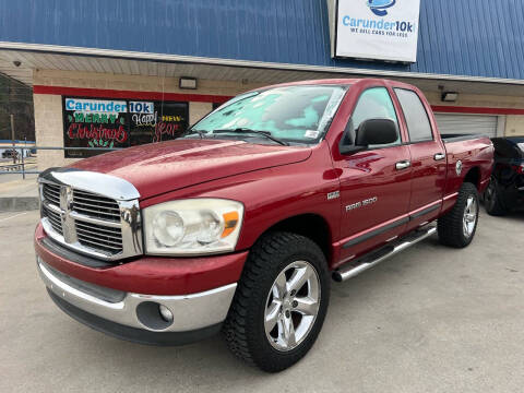
[[[388,118],[398,128],[398,118],[386,87],[364,91],[349,119],[353,144],[360,123]],[[409,206],[409,147],[403,145],[401,132],[396,142],[371,145],[366,151],[334,159],[341,170],[341,262],[350,260],[406,228]],[[407,164],[406,164],[407,163]]]

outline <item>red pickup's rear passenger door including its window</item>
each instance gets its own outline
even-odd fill
[[[445,147],[432,127],[431,110],[412,90],[395,87],[409,138],[412,189],[409,229],[434,218],[440,211],[445,188]],[[426,104],[426,105],[425,105]]]

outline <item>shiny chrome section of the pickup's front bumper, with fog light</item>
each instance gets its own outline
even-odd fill
[[[104,290],[105,288],[80,282],[72,277],[67,279],[68,276],[61,273],[57,274],[59,272],[53,273],[52,269],[46,265],[39,258],[37,266],[40,277],[49,290],[68,303],[102,319],[152,332],[188,332],[223,322],[227,317],[237,287],[235,283],[212,290],[183,296],[121,293],[121,299],[114,302],[103,299],[103,296],[96,296],[96,289]],[[81,285],[78,285],[79,283]],[[82,290],[82,286],[85,288],[91,286],[95,290],[90,294],[86,290]],[[106,290],[111,289],[106,288]],[[115,296],[112,297],[115,298]],[[155,306],[155,303],[163,305],[171,311],[172,322],[169,325],[166,325],[166,323],[162,325],[162,323],[158,324],[151,320],[152,318],[159,318],[159,314],[151,312],[151,307],[144,307],[144,305]],[[142,306],[138,309],[140,305]],[[141,309],[145,309],[145,313],[141,313],[139,311]],[[139,318],[139,313],[141,313],[141,318]],[[145,324],[143,321],[146,321]]]

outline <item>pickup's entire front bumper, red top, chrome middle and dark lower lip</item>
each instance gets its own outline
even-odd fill
[[[52,247],[38,226],[38,273],[64,312],[110,335],[162,345],[201,340],[221,329],[247,255],[192,260],[144,257],[97,266]],[[191,262],[193,270],[189,269]],[[142,291],[144,288],[151,291]],[[170,312],[167,319],[166,309]]]

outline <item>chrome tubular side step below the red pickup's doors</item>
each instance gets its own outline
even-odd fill
[[[352,261],[346,265],[343,265],[338,270],[333,272],[333,279],[341,283],[356,275],[367,271],[368,269],[378,265],[380,262],[386,260],[390,257],[397,254],[401,251],[416,245],[417,242],[426,239],[427,237],[437,233],[436,227],[417,229],[406,237],[396,240],[396,245],[384,246],[378,251],[372,251],[370,254],[365,255],[358,260]]]

